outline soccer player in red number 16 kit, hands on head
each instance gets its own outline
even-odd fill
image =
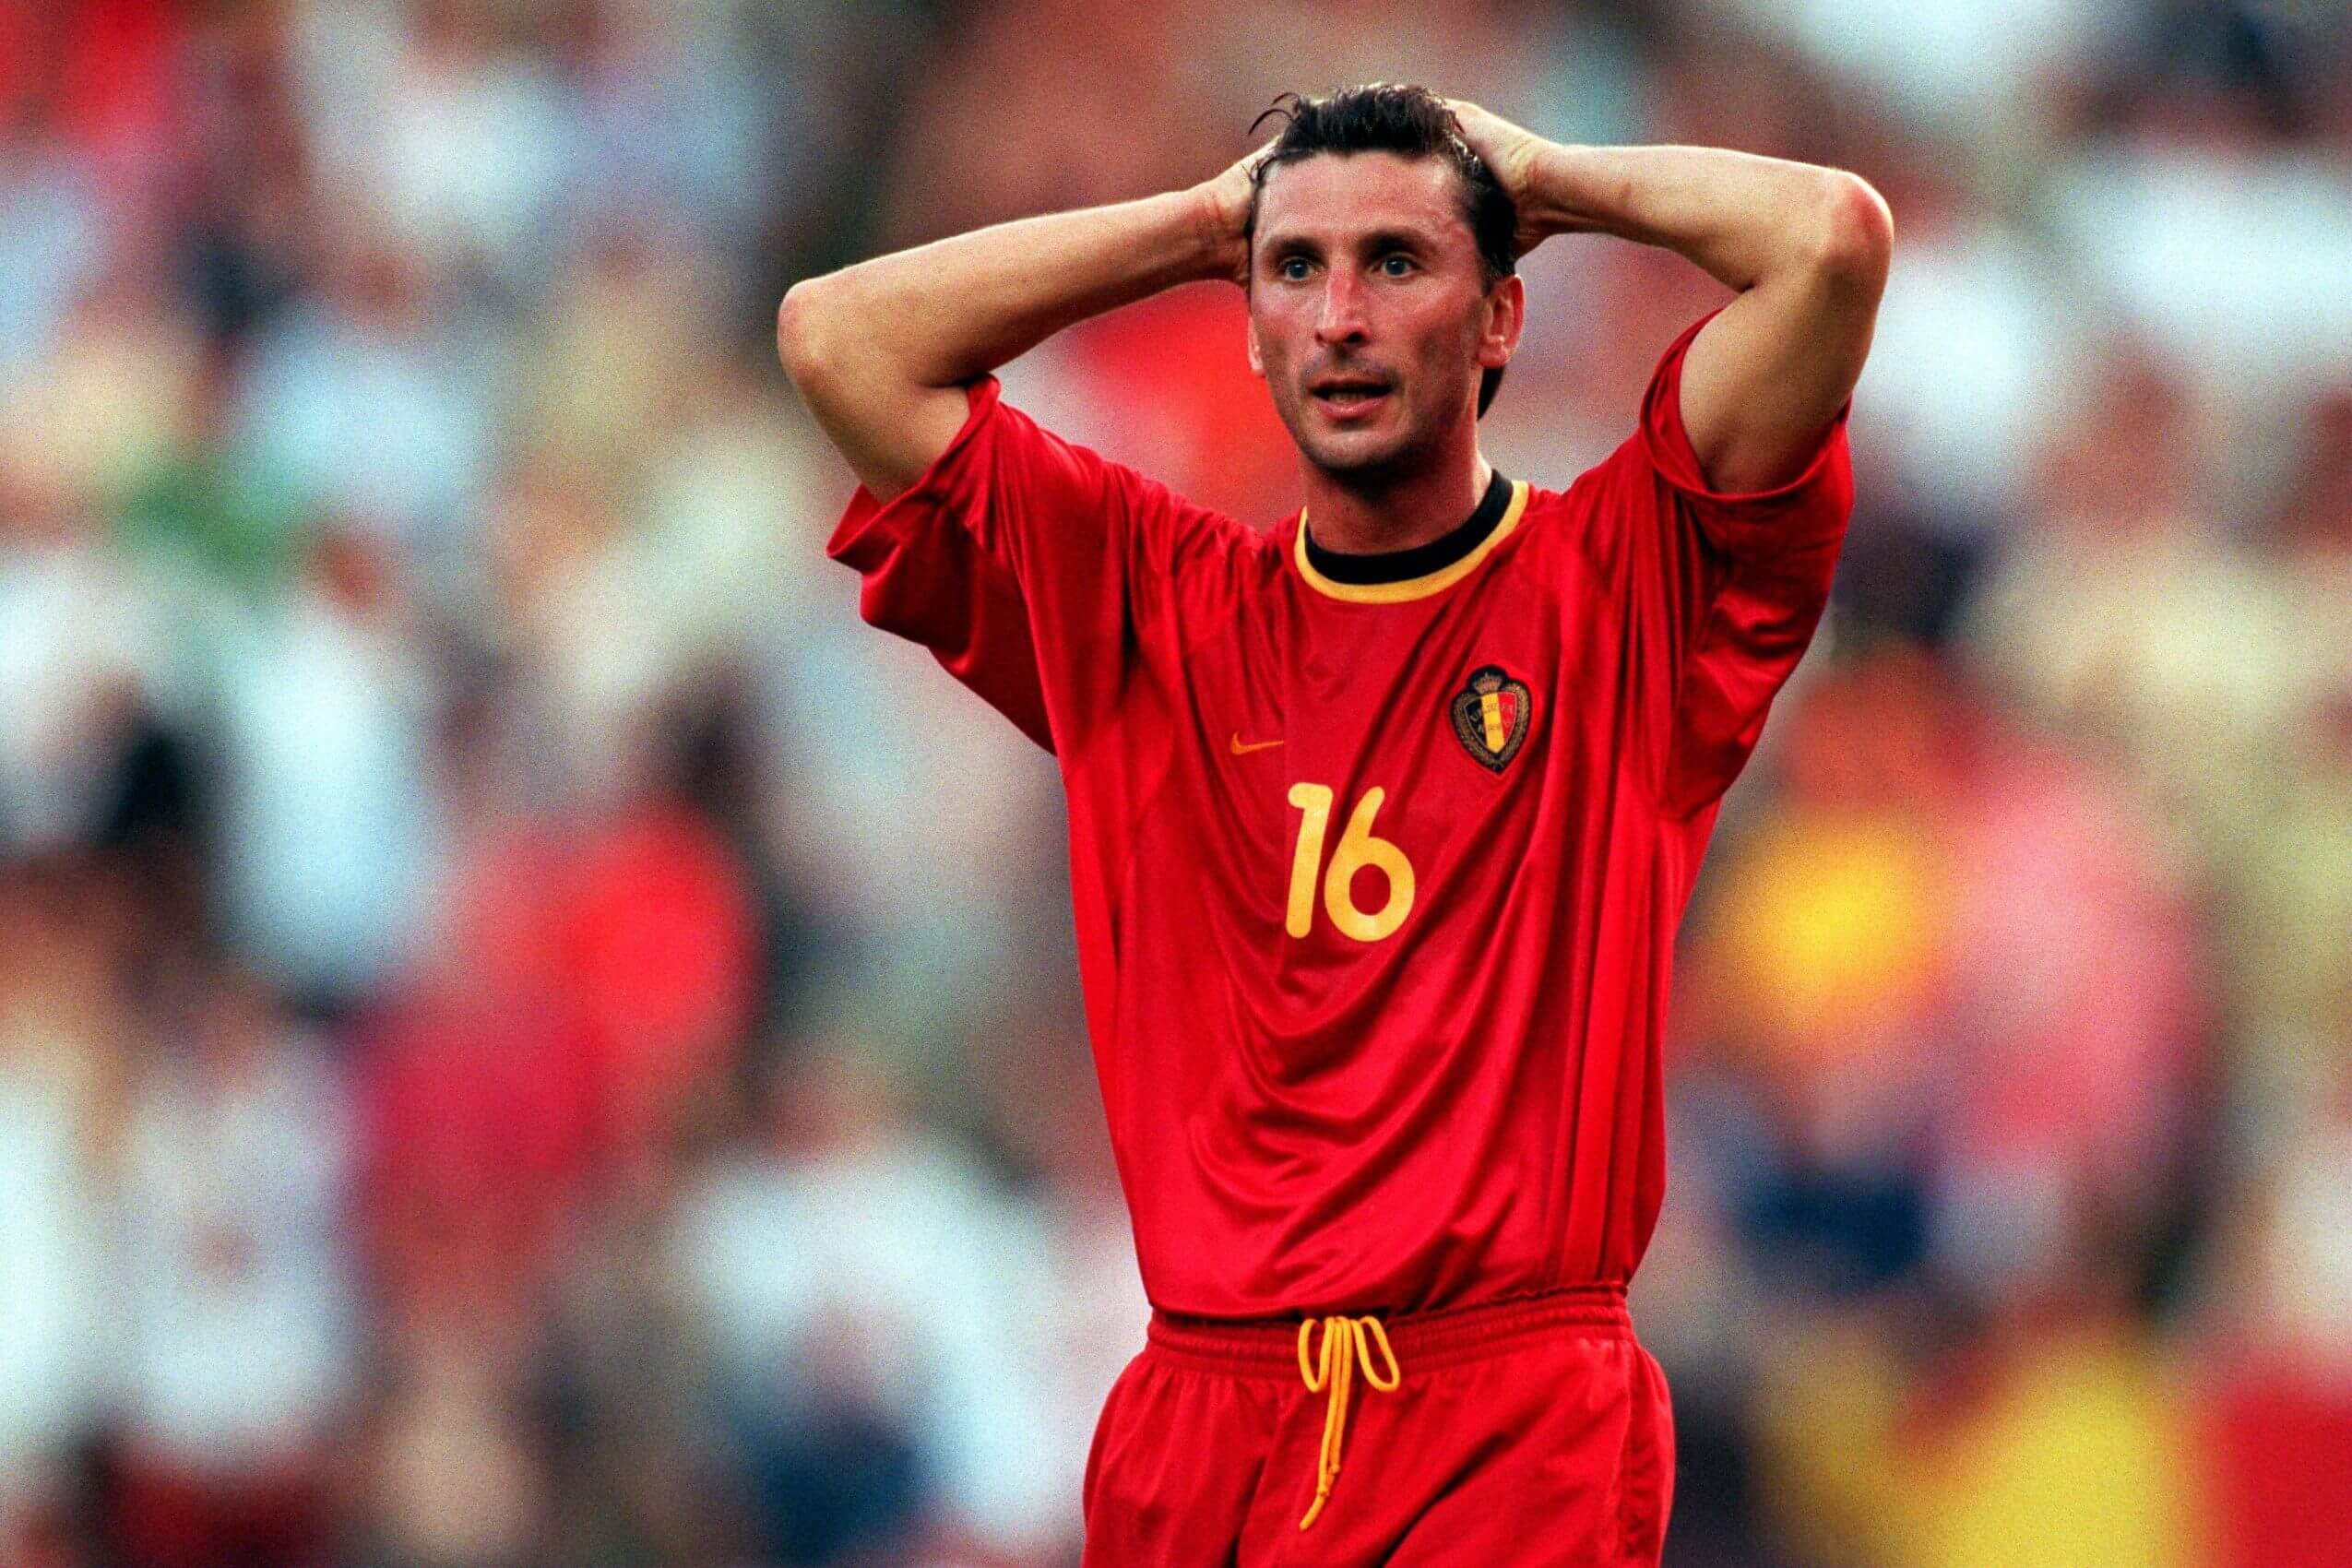
[[[1564,491],[1477,418],[1517,256],[1736,289]],[[795,284],[863,482],[863,616],[1061,759],[1077,957],[1152,1324],[1087,1563],[1656,1563],[1672,1418],[1625,1319],[1661,1025],[1717,802],[1820,618],[1886,280],[1860,179],[1555,146],[1418,87],[1291,99],[1148,200]],[[1308,503],[1258,531],[1040,430],[990,371],[1230,277]],[[1343,1474],[1345,1467],[1345,1474]]]

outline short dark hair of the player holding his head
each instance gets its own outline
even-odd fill
[[[1244,242],[1258,233],[1258,197],[1265,193],[1265,176],[1279,165],[1301,162],[1319,153],[1397,153],[1399,158],[1442,158],[1463,181],[1463,221],[1477,242],[1479,268],[1486,287],[1503,282],[1519,270],[1515,237],[1519,233],[1519,209],[1512,205],[1503,181],[1494,176],[1486,160],[1470,150],[1461,120],[1428,87],[1409,82],[1369,82],[1364,87],[1341,87],[1338,92],[1310,99],[1287,92],[1275,99],[1251,122],[1251,132],[1268,118],[1282,118],[1282,134],[1258,160],[1249,176],[1249,228]],[[1494,402],[1494,390],[1503,386],[1503,369],[1479,376],[1477,411],[1484,416]]]

